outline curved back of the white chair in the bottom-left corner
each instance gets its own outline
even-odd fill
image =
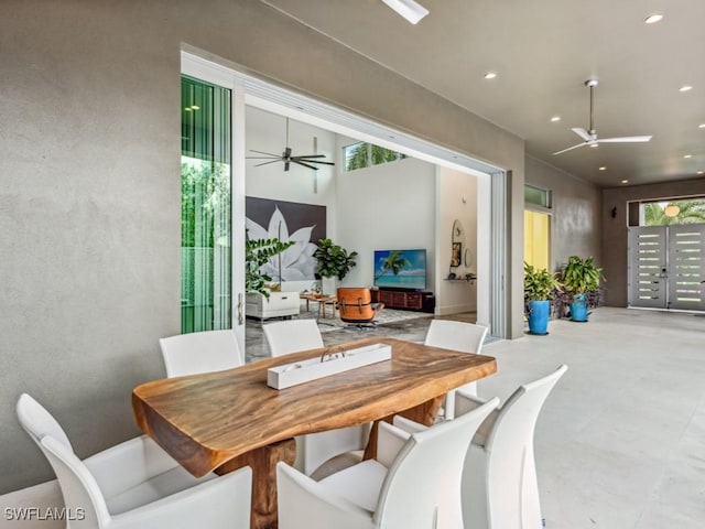
[[[26,393],[17,403],[22,428],[36,442],[52,465],[62,489],[64,504],[74,520],[67,527],[104,528],[110,514],[100,487],[88,467],[76,456],[58,422],[42,404]]]

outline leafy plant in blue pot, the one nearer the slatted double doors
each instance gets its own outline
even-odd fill
[[[599,302],[599,285],[603,269],[595,266],[594,259],[579,256],[568,257],[568,262],[561,272],[563,283],[563,301],[571,307],[571,320],[587,322],[588,307]]]

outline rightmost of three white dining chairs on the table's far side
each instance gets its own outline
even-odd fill
[[[488,328],[469,322],[455,322],[451,320],[431,320],[426,333],[425,345],[442,347],[444,349],[462,350],[463,353],[480,354]],[[445,396],[443,409],[440,415],[444,419],[453,419],[455,410],[455,392],[463,389],[465,392],[477,395],[477,382],[469,382],[460,388],[451,390]]]

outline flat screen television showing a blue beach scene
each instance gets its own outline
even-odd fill
[[[375,250],[375,285],[384,289],[426,288],[426,250]]]

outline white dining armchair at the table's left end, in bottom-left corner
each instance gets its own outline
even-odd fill
[[[54,469],[72,529],[250,527],[252,471],[195,478],[142,435],[79,460],[58,422],[26,393],[17,414]]]

